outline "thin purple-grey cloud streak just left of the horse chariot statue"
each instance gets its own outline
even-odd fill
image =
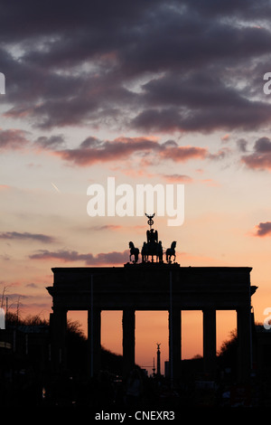
[[[63,262],[83,261],[87,265],[103,265],[103,264],[124,264],[129,259],[129,250],[123,252],[107,252],[99,253],[94,256],[91,253],[80,254],[76,250],[39,250],[37,253],[29,256],[31,260],[60,260]]]

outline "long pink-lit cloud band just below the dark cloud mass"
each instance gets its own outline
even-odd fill
[[[210,154],[207,147],[179,146],[173,139],[159,143],[157,137],[147,136],[122,136],[113,140],[102,140],[98,137],[89,136],[78,147],[67,148],[65,147],[66,140],[63,135],[41,136],[30,145],[26,138],[20,136],[21,133],[23,134],[21,130],[6,130],[3,133],[3,146],[5,148],[17,148],[17,146],[23,147],[29,144],[34,151],[39,149],[48,151],[52,155],[78,166],[116,162],[119,159],[127,161],[129,157],[135,159],[135,156],[139,158],[142,165],[152,165],[155,161],[159,163],[159,161],[165,159],[174,162],[186,162],[192,159],[202,160],[205,158],[217,159],[223,158],[229,153],[229,148],[223,148],[216,154]],[[4,189],[4,187],[5,185],[2,185],[0,189]]]

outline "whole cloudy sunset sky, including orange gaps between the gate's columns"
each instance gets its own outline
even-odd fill
[[[252,267],[263,322],[271,306],[270,2],[0,5],[0,289],[9,308],[48,318],[52,267],[123,266],[128,242],[141,248],[145,217],[87,213],[89,185],[107,189],[110,176],[133,188],[184,184],[182,225],[154,217],[164,249],[177,241],[181,267]],[[166,360],[166,315],[136,314],[138,363],[152,364],[157,342]],[[217,317],[219,349],[236,315]],[[121,353],[121,313],[105,312],[102,322],[103,345]],[[202,354],[201,312],[183,312],[182,326],[182,356]]]

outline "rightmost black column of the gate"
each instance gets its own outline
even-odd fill
[[[251,312],[250,307],[237,309],[238,382],[248,383],[251,372]]]

